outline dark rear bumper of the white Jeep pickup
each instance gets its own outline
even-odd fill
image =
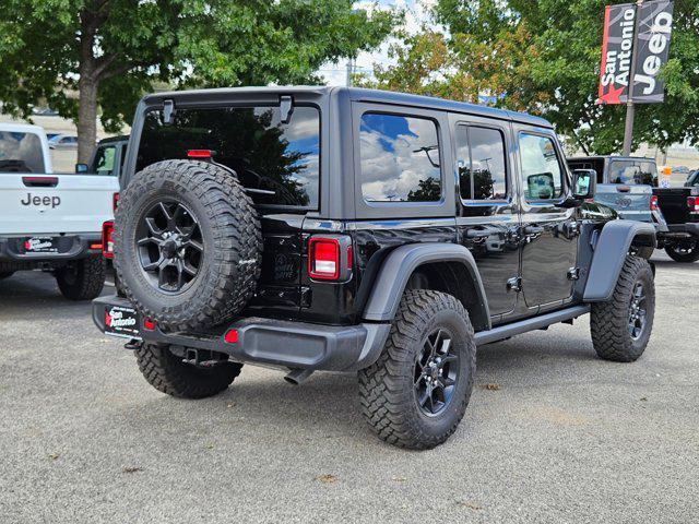
[[[24,239],[27,237],[56,237],[59,238],[58,253],[26,253]],[[91,249],[91,245],[99,243],[99,248]],[[102,252],[102,233],[80,233],[71,235],[22,235],[0,236],[0,262],[16,262],[20,265],[34,262],[70,261],[85,258],[90,254]]]

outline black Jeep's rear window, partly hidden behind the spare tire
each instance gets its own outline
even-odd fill
[[[296,106],[289,123],[279,107],[177,109],[171,124],[146,114],[137,170],[189,150],[212,150],[214,160],[238,174],[256,204],[318,209],[320,112]]]

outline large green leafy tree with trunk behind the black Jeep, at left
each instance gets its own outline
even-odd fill
[[[46,100],[73,119],[85,162],[98,108],[117,131],[154,82],[318,82],[322,63],[378,46],[399,17],[351,0],[2,0],[0,100],[23,117]]]

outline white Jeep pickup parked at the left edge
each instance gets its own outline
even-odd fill
[[[102,225],[114,217],[118,191],[116,177],[54,174],[44,129],[0,123],[0,279],[50,271],[64,297],[97,297]]]

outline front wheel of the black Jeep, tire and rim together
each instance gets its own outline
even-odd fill
[[[627,257],[612,298],[592,305],[592,345],[600,358],[632,362],[645,350],[655,314],[655,284],[650,264]]]

